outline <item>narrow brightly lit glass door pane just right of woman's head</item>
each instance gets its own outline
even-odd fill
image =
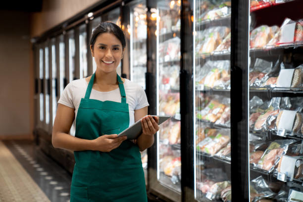
[[[147,71],[147,21],[146,6],[137,4],[130,13],[130,80],[145,89]]]

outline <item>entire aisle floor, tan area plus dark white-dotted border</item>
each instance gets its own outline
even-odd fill
[[[30,141],[0,141],[0,202],[68,202],[71,175]]]

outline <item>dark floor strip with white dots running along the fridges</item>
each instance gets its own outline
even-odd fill
[[[3,143],[51,202],[69,202],[70,173],[30,141],[3,141]]]

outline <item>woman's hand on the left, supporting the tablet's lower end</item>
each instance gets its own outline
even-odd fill
[[[126,139],[126,136],[118,137],[117,134],[102,135],[99,138],[93,140],[95,145],[94,150],[100,152],[110,152],[118,148],[121,143]]]

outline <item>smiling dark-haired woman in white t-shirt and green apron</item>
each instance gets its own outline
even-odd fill
[[[116,68],[123,56],[125,37],[114,23],[100,23],[90,49],[96,72],[70,82],[59,101],[52,145],[74,151],[71,202],[147,202],[141,155],[153,144],[158,117],[146,116],[148,101],[137,84],[121,79]],[[75,137],[68,134],[75,120]],[[117,137],[142,119],[136,141]]]

